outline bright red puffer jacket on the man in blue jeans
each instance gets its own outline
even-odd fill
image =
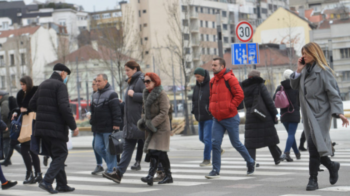
[[[224,68],[210,79],[209,111],[218,121],[235,116],[238,113],[237,106],[243,99],[243,90],[232,70]]]

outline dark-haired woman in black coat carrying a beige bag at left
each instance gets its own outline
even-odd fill
[[[34,95],[34,93],[37,90],[37,86],[33,86],[33,81],[30,76],[24,75],[19,79],[19,82],[20,82],[20,87],[22,89],[17,92],[18,108],[14,110],[12,114],[12,118],[14,116],[17,116],[18,113],[22,113],[22,116],[23,116],[23,115],[27,115],[29,112],[32,111],[28,108],[28,105],[31,97]],[[30,151],[30,140],[20,144],[20,154],[23,157],[23,161],[26,167],[26,175],[25,175],[25,180],[23,181],[23,184],[36,183],[36,182],[39,183],[42,180],[42,173],[40,170],[40,160],[37,154]],[[33,176],[31,165],[34,166],[35,176]]]

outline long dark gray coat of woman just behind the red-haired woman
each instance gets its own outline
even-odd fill
[[[141,118],[142,92],[145,88],[144,74],[141,71],[135,72],[131,76],[124,95],[124,138],[144,139],[144,132],[137,128],[137,120]],[[126,80],[127,81],[127,80]],[[127,95],[128,90],[133,90],[133,96]]]

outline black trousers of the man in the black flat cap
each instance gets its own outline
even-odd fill
[[[64,161],[68,155],[67,143],[48,136],[42,136],[42,143],[52,158],[43,180],[52,184],[56,179],[57,186],[67,185],[67,176],[64,171]]]

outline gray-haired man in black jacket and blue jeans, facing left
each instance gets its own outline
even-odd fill
[[[118,130],[121,124],[121,112],[118,94],[108,83],[107,75],[100,73],[96,76],[97,92],[92,95],[91,102],[91,129],[95,132],[94,149],[102,156],[107,164],[106,174],[116,167],[116,156],[107,150],[108,136],[113,130]]]

